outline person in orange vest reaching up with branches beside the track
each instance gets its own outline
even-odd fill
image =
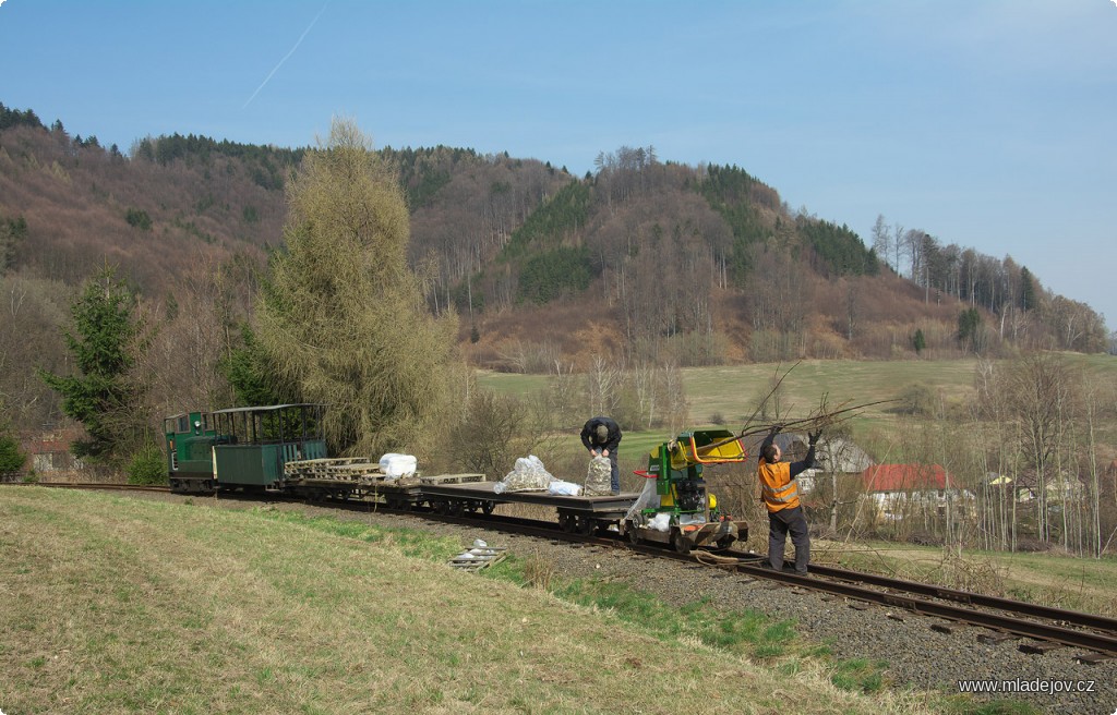
[[[822,431],[809,434],[810,444],[806,458],[802,462],[781,462],[783,452],[775,443],[780,425],[768,432],[761,444],[760,460],[756,472],[761,481],[761,499],[768,510],[768,563],[776,571],[783,569],[783,550],[787,533],[795,544],[795,572],[805,574],[806,564],[811,561],[811,540],[806,531],[806,516],[799,503],[799,482],[795,477],[803,470],[814,466],[814,443],[819,441]]]

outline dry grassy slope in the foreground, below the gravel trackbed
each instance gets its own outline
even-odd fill
[[[0,493],[0,708],[29,713],[910,713],[789,624],[334,518]],[[498,567],[500,568],[500,567]],[[519,582],[517,582],[519,581]],[[836,685],[838,683],[839,685]],[[850,689],[852,688],[852,689]],[[930,705],[928,705],[930,703]]]

